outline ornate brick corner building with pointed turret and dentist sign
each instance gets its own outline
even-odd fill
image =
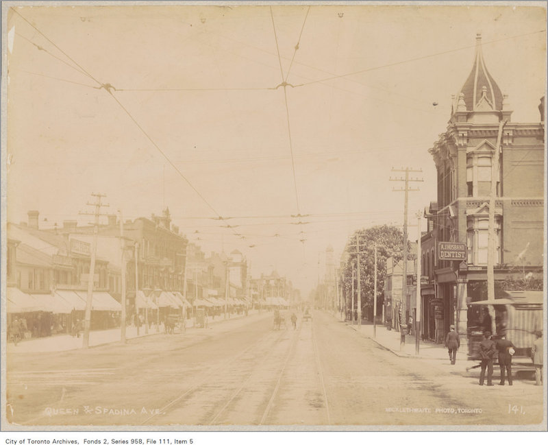
[[[504,280],[543,276],[544,98],[539,109],[539,122],[511,121],[508,96],[487,71],[478,34],[472,71],[453,96],[447,131],[429,149],[438,185],[421,239],[422,269],[429,276],[422,292],[424,337],[443,338],[450,324],[466,335],[477,315],[469,303],[487,298],[488,214],[499,128],[495,289]],[[440,260],[439,241],[466,243],[466,261]]]

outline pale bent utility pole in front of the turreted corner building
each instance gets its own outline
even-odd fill
[[[499,133],[497,135],[497,147],[493,153],[493,162],[491,163],[491,189],[489,195],[489,223],[487,238],[487,300],[495,301],[495,205],[497,200],[497,179],[499,179],[499,155],[501,151],[502,129],[505,121],[499,123]],[[489,315],[491,316],[491,332],[493,335],[497,332],[495,322],[495,308],[488,305]]]

